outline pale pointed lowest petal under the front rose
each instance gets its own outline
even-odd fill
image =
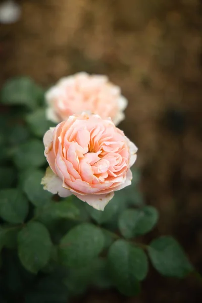
[[[98,211],[104,211],[108,202],[113,198],[114,192],[110,192],[107,194],[99,194],[99,195],[93,195],[93,194],[86,194],[86,195],[75,194],[75,195],[80,200],[92,206],[94,209]]]

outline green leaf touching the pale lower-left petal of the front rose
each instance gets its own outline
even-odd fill
[[[40,170],[27,171],[22,184],[23,191],[27,194],[31,203],[37,207],[51,203],[53,194],[43,189],[40,184],[44,173]]]

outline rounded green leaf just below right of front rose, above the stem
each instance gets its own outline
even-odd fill
[[[154,207],[127,209],[119,218],[119,229],[125,238],[133,238],[149,232],[156,225],[159,214]]]

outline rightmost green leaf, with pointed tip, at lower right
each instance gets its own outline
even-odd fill
[[[183,278],[193,270],[182,247],[171,236],[162,236],[148,246],[151,263],[156,270],[167,277]]]

